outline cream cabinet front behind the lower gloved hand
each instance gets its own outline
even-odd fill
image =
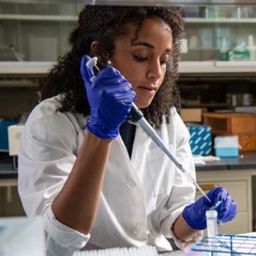
[[[219,233],[252,232],[252,171],[197,171],[197,181],[205,192],[214,187],[224,187],[236,202],[238,211],[236,218],[232,222],[219,225]],[[198,197],[200,194],[197,192]]]

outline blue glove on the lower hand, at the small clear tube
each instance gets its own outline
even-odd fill
[[[218,212],[217,219],[220,222],[229,222],[236,217],[236,203],[227,193],[227,190],[217,187],[211,189],[207,195],[211,203],[202,196],[195,203],[186,206],[182,212],[187,224],[195,230],[206,229],[206,211],[210,210],[218,201],[221,203],[215,210]]]

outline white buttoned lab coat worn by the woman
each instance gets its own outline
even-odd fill
[[[54,217],[51,203],[72,170],[86,127],[82,114],[61,113],[56,111],[59,105],[58,96],[34,108],[23,130],[18,162],[20,198],[29,217],[40,215],[44,220],[47,255],[145,244],[171,249],[165,237],[183,246],[171,227],[183,208],[193,202],[195,187],[140,127],[136,127],[131,159],[120,135],[113,140],[90,235]],[[171,109],[170,124],[163,124],[158,134],[195,177],[189,132],[175,108]]]

